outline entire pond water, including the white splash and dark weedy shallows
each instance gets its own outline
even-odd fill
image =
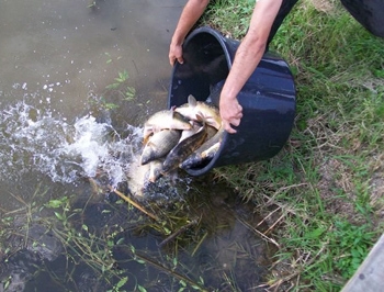
[[[185,2],[0,0],[0,291],[259,290],[272,248],[227,186],[135,192],[155,220],[117,195]]]

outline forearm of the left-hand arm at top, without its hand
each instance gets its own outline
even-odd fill
[[[180,15],[179,23],[172,36],[172,43],[181,45],[187,34],[204,13],[210,0],[189,0]]]

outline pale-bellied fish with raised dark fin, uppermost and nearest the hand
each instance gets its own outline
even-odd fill
[[[201,114],[207,125],[213,126],[216,130],[222,126],[222,117],[218,109],[206,102],[196,101],[192,94],[188,97],[188,103],[176,108],[174,112],[180,113],[191,121],[199,121],[197,115]]]

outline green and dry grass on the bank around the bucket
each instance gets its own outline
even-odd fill
[[[240,40],[253,3],[215,1],[202,22]],[[280,289],[339,291],[384,231],[384,41],[328,4],[296,4],[271,44],[297,87],[284,149],[215,170],[269,218],[281,246],[269,284]]]

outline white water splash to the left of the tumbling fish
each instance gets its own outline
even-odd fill
[[[38,171],[55,182],[76,183],[81,177],[108,175],[110,183],[125,180],[133,154],[139,149],[142,131],[127,126],[122,138],[106,123],[87,115],[71,125],[19,102],[0,112],[1,179],[16,180],[21,173]]]

